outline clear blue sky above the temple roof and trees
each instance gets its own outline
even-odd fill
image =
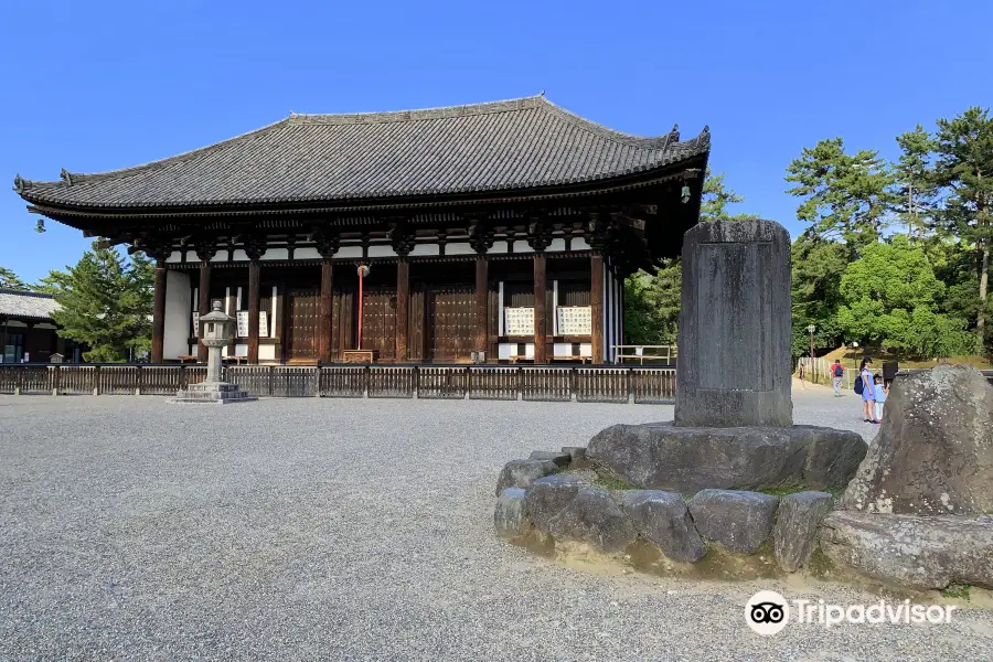
[[[10,189],[216,142],[297,113],[528,96],[647,136],[711,126],[738,211],[793,234],[804,146],[993,105],[993,2],[10,2],[0,12],[0,265],[34,281],[81,233]]]

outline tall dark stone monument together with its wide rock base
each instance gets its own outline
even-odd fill
[[[683,239],[675,420],[615,425],[587,458],[639,488],[842,488],[865,457],[855,433],[793,425],[790,236],[716,221]]]

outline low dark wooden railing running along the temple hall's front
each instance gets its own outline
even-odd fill
[[[618,365],[228,365],[225,381],[267,397],[401,397],[663,404],[675,370]],[[203,365],[0,365],[0,394],[174,395]]]

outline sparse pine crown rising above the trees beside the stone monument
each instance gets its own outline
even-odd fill
[[[893,205],[894,174],[875,150],[845,153],[841,138],[804,148],[787,168],[787,193],[803,197],[797,217],[809,236],[842,241],[852,258],[879,238]]]

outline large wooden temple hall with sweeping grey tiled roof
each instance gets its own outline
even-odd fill
[[[145,166],[15,179],[29,210],[157,260],[151,360],[610,362],[623,278],[697,223],[706,128],[643,138],[543,96],[290,115]],[[360,267],[363,277],[360,278]],[[365,276],[367,268],[367,276]],[[361,331],[360,331],[361,328]]]

